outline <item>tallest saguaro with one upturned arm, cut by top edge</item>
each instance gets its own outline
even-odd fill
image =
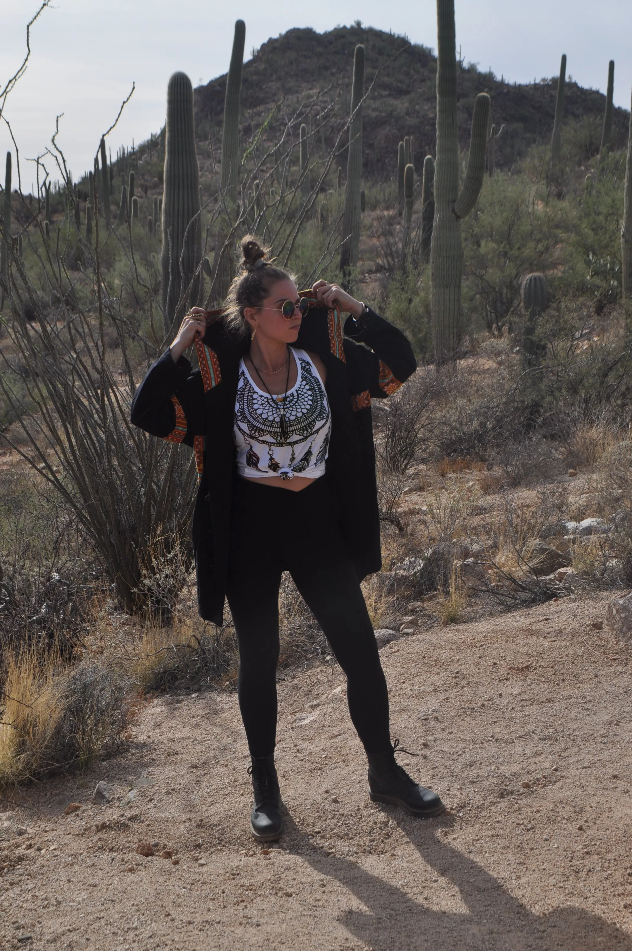
[[[476,204],[483,185],[491,102],[486,92],[476,97],[469,158],[460,192],[454,0],[437,0],[437,24],[437,163],[430,283],[435,360],[443,363],[455,357],[461,339],[461,219]]]

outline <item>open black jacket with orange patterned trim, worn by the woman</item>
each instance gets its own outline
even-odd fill
[[[404,334],[369,310],[365,326],[344,324],[307,296],[310,307],[296,346],[326,365],[331,438],[326,478],[359,580],[382,567],[380,519],[375,482],[371,398],[385,398],[416,369]],[[365,344],[361,346],[360,344]],[[200,369],[188,359],[174,363],[167,351],[136,390],[131,421],[153,436],[192,446],[200,484],[193,514],[193,550],[200,614],[223,623],[227,586],[230,498],[235,466],[232,436],[239,361],[248,341],[227,332],[221,317],[212,320],[196,349]],[[368,349],[370,347],[370,349]]]

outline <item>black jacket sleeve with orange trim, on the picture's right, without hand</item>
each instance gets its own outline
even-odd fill
[[[363,362],[368,375],[371,398],[389,397],[417,369],[417,360],[405,335],[397,327],[368,308],[365,323],[356,331],[352,317],[345,321],[345,335],[350,340],[364,343]]]

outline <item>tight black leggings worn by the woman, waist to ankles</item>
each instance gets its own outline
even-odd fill
[[[390,748],[385,675],[326,476],[300,492],[236,478],[227,598],[239,644],[239,708],[250,755],[274,751],[284,571],[346,673],[349,712],[366,752],[385,752]]]

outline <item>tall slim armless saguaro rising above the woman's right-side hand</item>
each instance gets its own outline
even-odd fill
[[[360,191],[362,186],[362,101],[365,96],[365,48],[358,45],[353,56],[353,87],[351,88],[351,127],[346,161],[346,196],[343,216],[345,243],[340,253],[343,281],[358,263],[360,250]]]

